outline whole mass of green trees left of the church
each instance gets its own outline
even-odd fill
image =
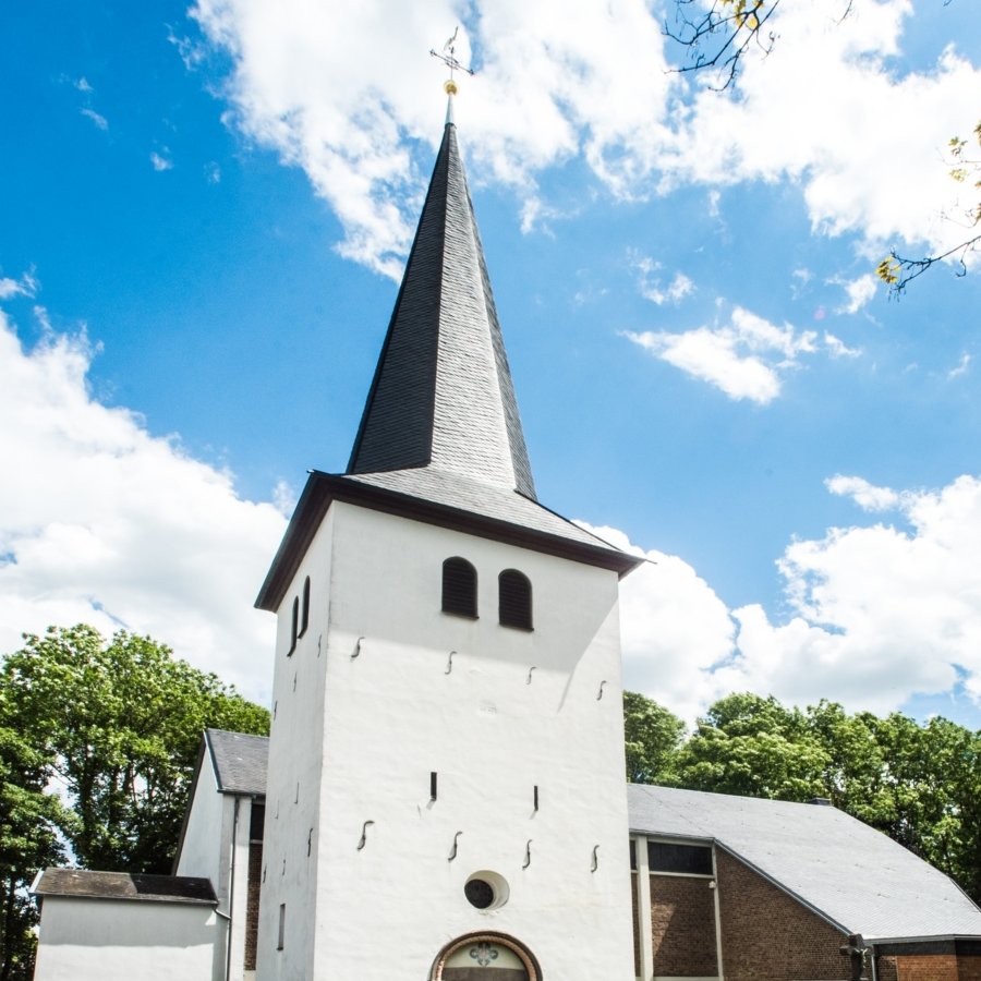
[[[269,714],[146,637],[25,634],[0,667],[0,981],[29,978],[38,869],[169,872],[206,727]]]

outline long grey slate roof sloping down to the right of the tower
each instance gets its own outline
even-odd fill
[[[829,806],[628,786],[630,828],[716,841],[845,933],[981,936],[981,909],[942,872]]]

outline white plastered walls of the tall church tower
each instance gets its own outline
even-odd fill
[[[475,621],[440,611],[453,555],[477,569]],[[532,581],[531,633],[497,622],[506,568]],[[306,574],[312,635],[286,658]],[[446,943],[480,930],[526,944],[546,979],[633,977],[615,572],[335,502],[283,602],[275,698],[281,799],[278,819],[267,799],[266,852],[280,884],[267,879],[263,894],[263,981],[423,981]],[[322,762],[319,791],[304,789]],[[481,870],[508,881],[501,908],[467,903],[463,884]]]

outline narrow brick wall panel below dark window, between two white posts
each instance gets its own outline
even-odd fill
[[[715,898],[707,879],[651,876],[651,941],[655,977],[717,977]]]

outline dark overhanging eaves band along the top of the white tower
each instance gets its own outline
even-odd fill
[[[339,474],[314,470],[306,481],[290,524],[276,557],[272,559],[266,581],[256,597],[255,605],[258,609],[275,613],[279,608],[327,509],[335,500],[358,505],[374,511],[384,511],[388,514],[397,514],[400,518],[409,518],[424,524],[449,528],[481,538],[518,545],[521,548],[555,555],[588,566],[610,569],[620,578],[644,561],[642,558],[628,555],[613,546],[576,542],[559,535],[512,524],[509,521],[501,521],[498,518],[477,514],[463,508],[453,508],[409,494],[372,487]]]

